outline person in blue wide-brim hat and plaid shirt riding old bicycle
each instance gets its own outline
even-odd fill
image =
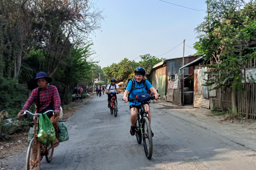
[[[34,82],[37,83],[38,87],[32,90],[31,95],[23,106],[23,109],[19,112],[18,117],[20,117],[25,110],[28,110],[33,103],[36,104],[37,113],[44,113],[48,110],[54,110],[55,118],[60,115],[61,102],[58,90],[55,86],[47,85],[51,81],[52,79],[48,77],[45,72],[39,72],[36,74]],[[53,113],[48,112],[47,116],[51,118]],[[54,128],[57,136],[58,127],[54,125]],[[54,141],[54,143],[56,143],[55,146],[57,146],[58,140]]]

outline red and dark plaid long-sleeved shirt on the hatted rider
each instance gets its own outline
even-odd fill
[[[29,96],[28,100],[26,101],[25,105],[23,106],[23,109],[21,111],[28,110],[30,106],[35,102],[37,105],[37,93],[38,88],[34,89],[31,92],[31,95]],[[46,85],[45,91],[40,91],[40,108],[39,112],[45,109],[48,106],[53,105],[54,109],[60,112],[60,96],[57,90],[57,87]]]

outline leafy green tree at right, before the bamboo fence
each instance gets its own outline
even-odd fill
[[[216,74],[216,79],[207,80],[206,85],[217,83],[214,89],[231,86],[232,110],[237,113],[236,91],[243,90],[245,68],[255,57],[256,1],[211,0],[208,12],[209,16],[196,28],[199,41],[195,48],[210,62],[206,65],[212,69],[208,73]]]

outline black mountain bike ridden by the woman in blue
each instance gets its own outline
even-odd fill
[[[155,96],[150,96],[148,101],[141,102],[141,109],[137,112],[137,118],[135,122],[135,135],[137,142],[141,144],[143,139],[143,146],[146,157],[150,159],[153,154],[153,140],[152,140],[152,131],[149,124],[148,112],[145,112],[144,105],[148,104],[150,100],[155,99]],[[137,99],[128,98],[129,102],[135,102]]]

